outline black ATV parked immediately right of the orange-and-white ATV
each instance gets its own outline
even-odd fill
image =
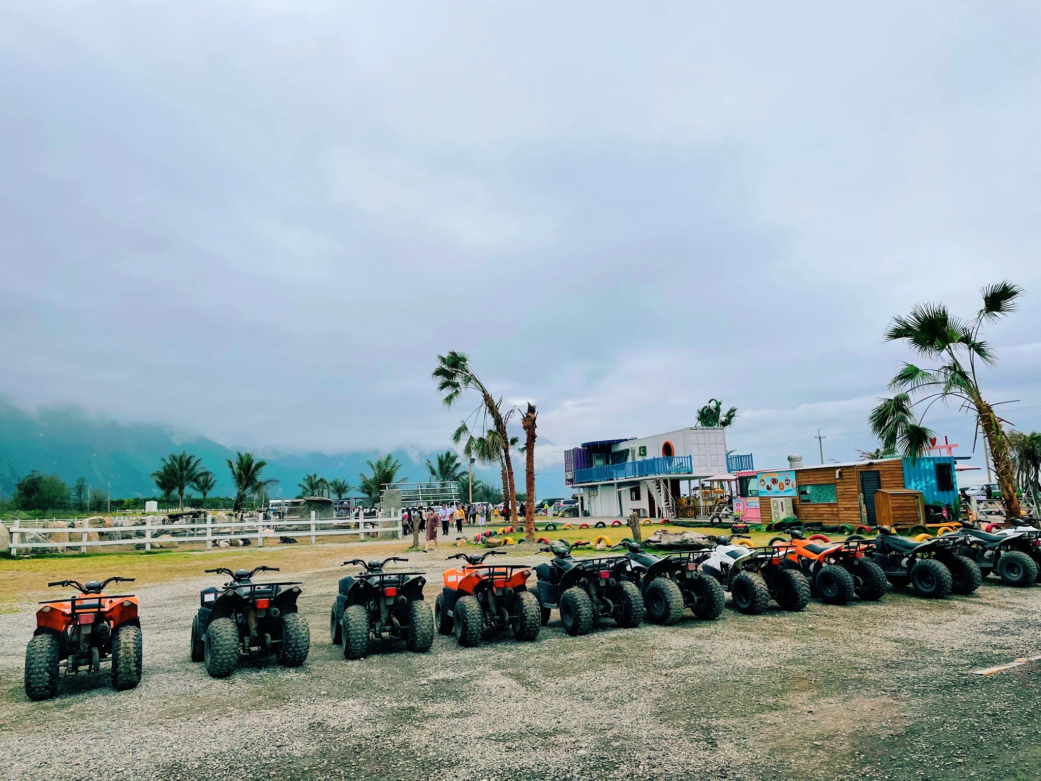
[[[919,597],[943,599],[972,594],[983,580],[976,563],[960,555],[957,546],[955,534],[916,543],[879,527],[873,558],[894,586],[910,584]]]

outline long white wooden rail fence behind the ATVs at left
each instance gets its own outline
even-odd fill
[[[131,545],[150,551],[153,546],[161,547],[161,544],[170,541],[205,543],[206,550],[209,551],[222,539],[255,539],[257,547],[262,548],[264,539],[278,537],[308,536],[311,545],[315,544],[318,537],[345,534],[357,534],[362,540],[366,534],[378,537],[380,533],[390,533],[398,539],[402,537],[401,518],[318,519],[313,510],[310,519],[279,521],[220,519],[214,522],[213,515],[207,514],[205,523],[156,523],[160,518],[162,517],[148,515],[141,524],[111,527],[86,526],[86,519],[72,519],[67,522],[70,526],[64,528],[25,526],[24,524],[43,522],[16,519],[10,526],[10,554],[17,556],[19,552],[55,548],[79,548],[80,553],[86,553],[87,548],[116,545]],[[39,535],[44,541],[29,541],[29,535]],[[67,536],[51,539],[54,535]]]

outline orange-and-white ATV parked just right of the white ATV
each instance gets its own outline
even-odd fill
[[[863,538],[833,543],[823,534],[806,538],[804,530],[797,528],[788,533],[790,540],[773,537],[770,545],[788,548],[788,562],[803,572],[824,602],[844,605],[854,595],[875,601],[886,593],[886,573],[871,559],[871,543]]]

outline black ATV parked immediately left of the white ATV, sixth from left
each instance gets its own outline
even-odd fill
[[[702,561],[709,556],[708,550],[676,551],[659,556],[630,539],[620,546],[629,551],[630,573],[643,595],[646,620],[652,624],[671,626],[688,607],[696,619],[714,621],[722,614],[727,594],[718,580],[701,570]]]

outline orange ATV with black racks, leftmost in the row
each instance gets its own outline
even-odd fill
[[[131,594],[105,594],[111,582],[133,578],[56,580],[48,586],[72,586],[82,596],[46,600],[36,611],[36,631],[25,649],[25,694],[30,700],[47,700],[57,694],[58,672],[76,675],[111,665],[112,686],[133,688],[141,681],[142,635],[137,598]]]

